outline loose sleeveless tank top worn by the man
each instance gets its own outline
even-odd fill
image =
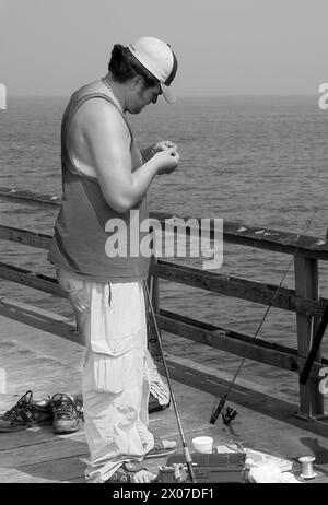
[[[79,107],[89,99],[103,98],[119,110],[108,95],[83,94],[83,92],[81,95],[81,90],[83,89],[71,96],[61,122],[62,204],[55,223],[48,260],[57,268],[63,268],[94,282],[144,280],[150,259],[141,256],[140,243],[148,233],[140,231],[139,223],[148,218],[147,197],[134,204],[131,213],[130,211],[118,213],[105,201],[97,178],[78,171],[72,161],[68,129]],[[133,172],[142,165],[142,160],[132,130],[126,117],[121,111],[120,114],[131,136],[130,155]],[[121,225],[119,228],[108,225],[109,220],[120,220]],[[131,228],[133,231],[130,233]],[[137,244],[137,251],[136,243],[132,245],[133,254],[131,254],[130,237],[133,236],[136,239],[136,231],[138,231],[139,244]],[[108,240],[112,244],[110,250],[114,248],[119,250],[117,240],[120,246],[124,245],[118,256],[113,257],[113,252],[108,254]]]

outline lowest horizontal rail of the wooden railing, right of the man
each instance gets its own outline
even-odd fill
[[[200,322],[172,312],[160,310],[160,314],[156,314],[156,320],[162,330],[195,342],[211,345],[224,352],[242,357],[245,356],[248,360],[292,372],[298,372],[305,363],[305,359],[298,356],[295,349],[262,341],[261,339],[254,340],[251,337]],[[316,362],[313,366],[312,375],[315,376],[327,364],[328,360],[323,360],[320,363]]]

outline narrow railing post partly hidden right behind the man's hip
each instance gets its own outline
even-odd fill
[[[157,258],[153,257],[151,261],[152,261],[152,272],[150,273],[148,278],[148,289],[150,292],[150,297],[151,297],[154,313],[156,314],[160,309],[159,277],[156,274]],[[159,329],[159,331],[160,331],[160,337],[161,337],[161,330]],[[148,307],[148,342],[149,342],[149,351],[153,360],[157,362],[159,360],[161,360],[161,350],[160,350],[160,344],[159,344],[156,331],[154,328],[153,317],[152,317],[150,307]]]

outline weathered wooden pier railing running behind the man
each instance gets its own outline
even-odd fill
[[[0,188],[0,196],[34,204],[60,205],[60,198],[9,188]],[[173,220],[175,216],[164,213],[151,213],[151,218],[157,219],[164,226],[165,220]],[[188,220],[188,218],[183,219]],[[212,237],[213,233],[213,230],[211,230]],[[313,336],[328,303],[327,298],[319,297],[318,289],[318,261],[328,260],[327,243],[318,237],[300,236],[293,233],[229,222],[224,222],[223,237],[226,243],[292,255],[294,257],[295,290],[157,259],[153,261],[150,273],[152,275],[152,296],[159,328],[237,356],[301,374],[309,352]],[[51,237],[46,234],[0,225],[0,238],[48,249]],[[12,265],[0,263],[0,277],[57,296],[66,296],[56,279]],[[260,338],[255,339],[161,309],[159,304],[159,279],[295,313],[297,349],[268,342]],[[151,319],[150,325],[153,329]],[[152,351],[156,353],[154,339],[151,339],[151,342],[153,342]],[[328,366],[328,360],[321,357],[320,352],[318,352],[306,385],[300,385],[300,413],[307,419],[315,419],[324,414],[324,399],[318,388],[319,371],[324,366]],[[176,378],[181,379],[183,374],[184,372],[177,372]],[[199,377],[199,379],[202,380],[203,376]]]

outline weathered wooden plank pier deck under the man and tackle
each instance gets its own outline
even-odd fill
[[[3,380],[0,385],[0,412],[12,407],[28,389],[36,398],[80,391],[83,353],[72,321],[0,298],[0,371],[5,372],[7,378],[7,391]],[[181,366],[185,364],[187,360]],[[227,384],[226,377],[218,374],[218,395],[225,391]],[[245,447],[291,459],[296,477],[297,458],[313,455],[317,478],[311,482],[328,482],[328,422],[325,419],[308,422],[294,415],[297,399],[292,403],[261,392],[256,384],[239,383],[227,402],[237,410],[237,418],[231,426],[221,419],[211,425],[214,397],[195,384],[192,374],[189,385],[176,380],[173,385],[190,448],[191,438],[200,434],[213,436],[214,446],[238,441]],[[173,408],[152,413],[150,423],[155,434],[174,437],[181,448]],[[83,426],[71,435],[55,435],[51,426],[0,433],[0,483],[82,483],[86,457]],[[150,460],[147,466],[156,472],[157,465],[164,462],[165,458]]]

